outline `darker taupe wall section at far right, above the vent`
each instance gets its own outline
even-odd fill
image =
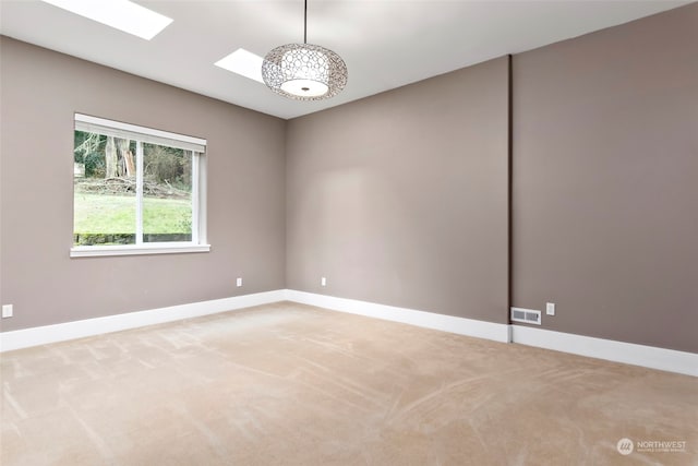
[[[513,304],[698,353],[698,4],[514,58]]]

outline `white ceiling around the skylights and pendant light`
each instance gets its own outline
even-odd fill
[[[240,47],[263,57],[302,41],[303,0],[135,1],[174,21],[147,41],[38,0],[0,0],[0,33],[288,119],[690,3],[309,0],[308,41],[349,69],[338,96],[309,103],[214,65]]]

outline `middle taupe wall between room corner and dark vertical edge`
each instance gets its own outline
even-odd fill
[[[506,58],[291,120],[287,286],[506,322],[507,141]]]

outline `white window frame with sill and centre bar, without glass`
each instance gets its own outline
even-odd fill
[[[116,246],[73,246],[70,249],[71,258],[96,255],[174,254],[183,252],[210,251],[210,244],[206,241],[206,140],[82,113],[75,113],[75,130],[117,138],[127,138],[136,141],[136,243]],[[191,241],[143,242],[144,142],[182,148],[192,153]],[[74,208],[73,204],[73,212]]]

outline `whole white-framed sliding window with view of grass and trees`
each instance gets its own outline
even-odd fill
[[[75,115],[71,256],[204,252],[206,141]]]

